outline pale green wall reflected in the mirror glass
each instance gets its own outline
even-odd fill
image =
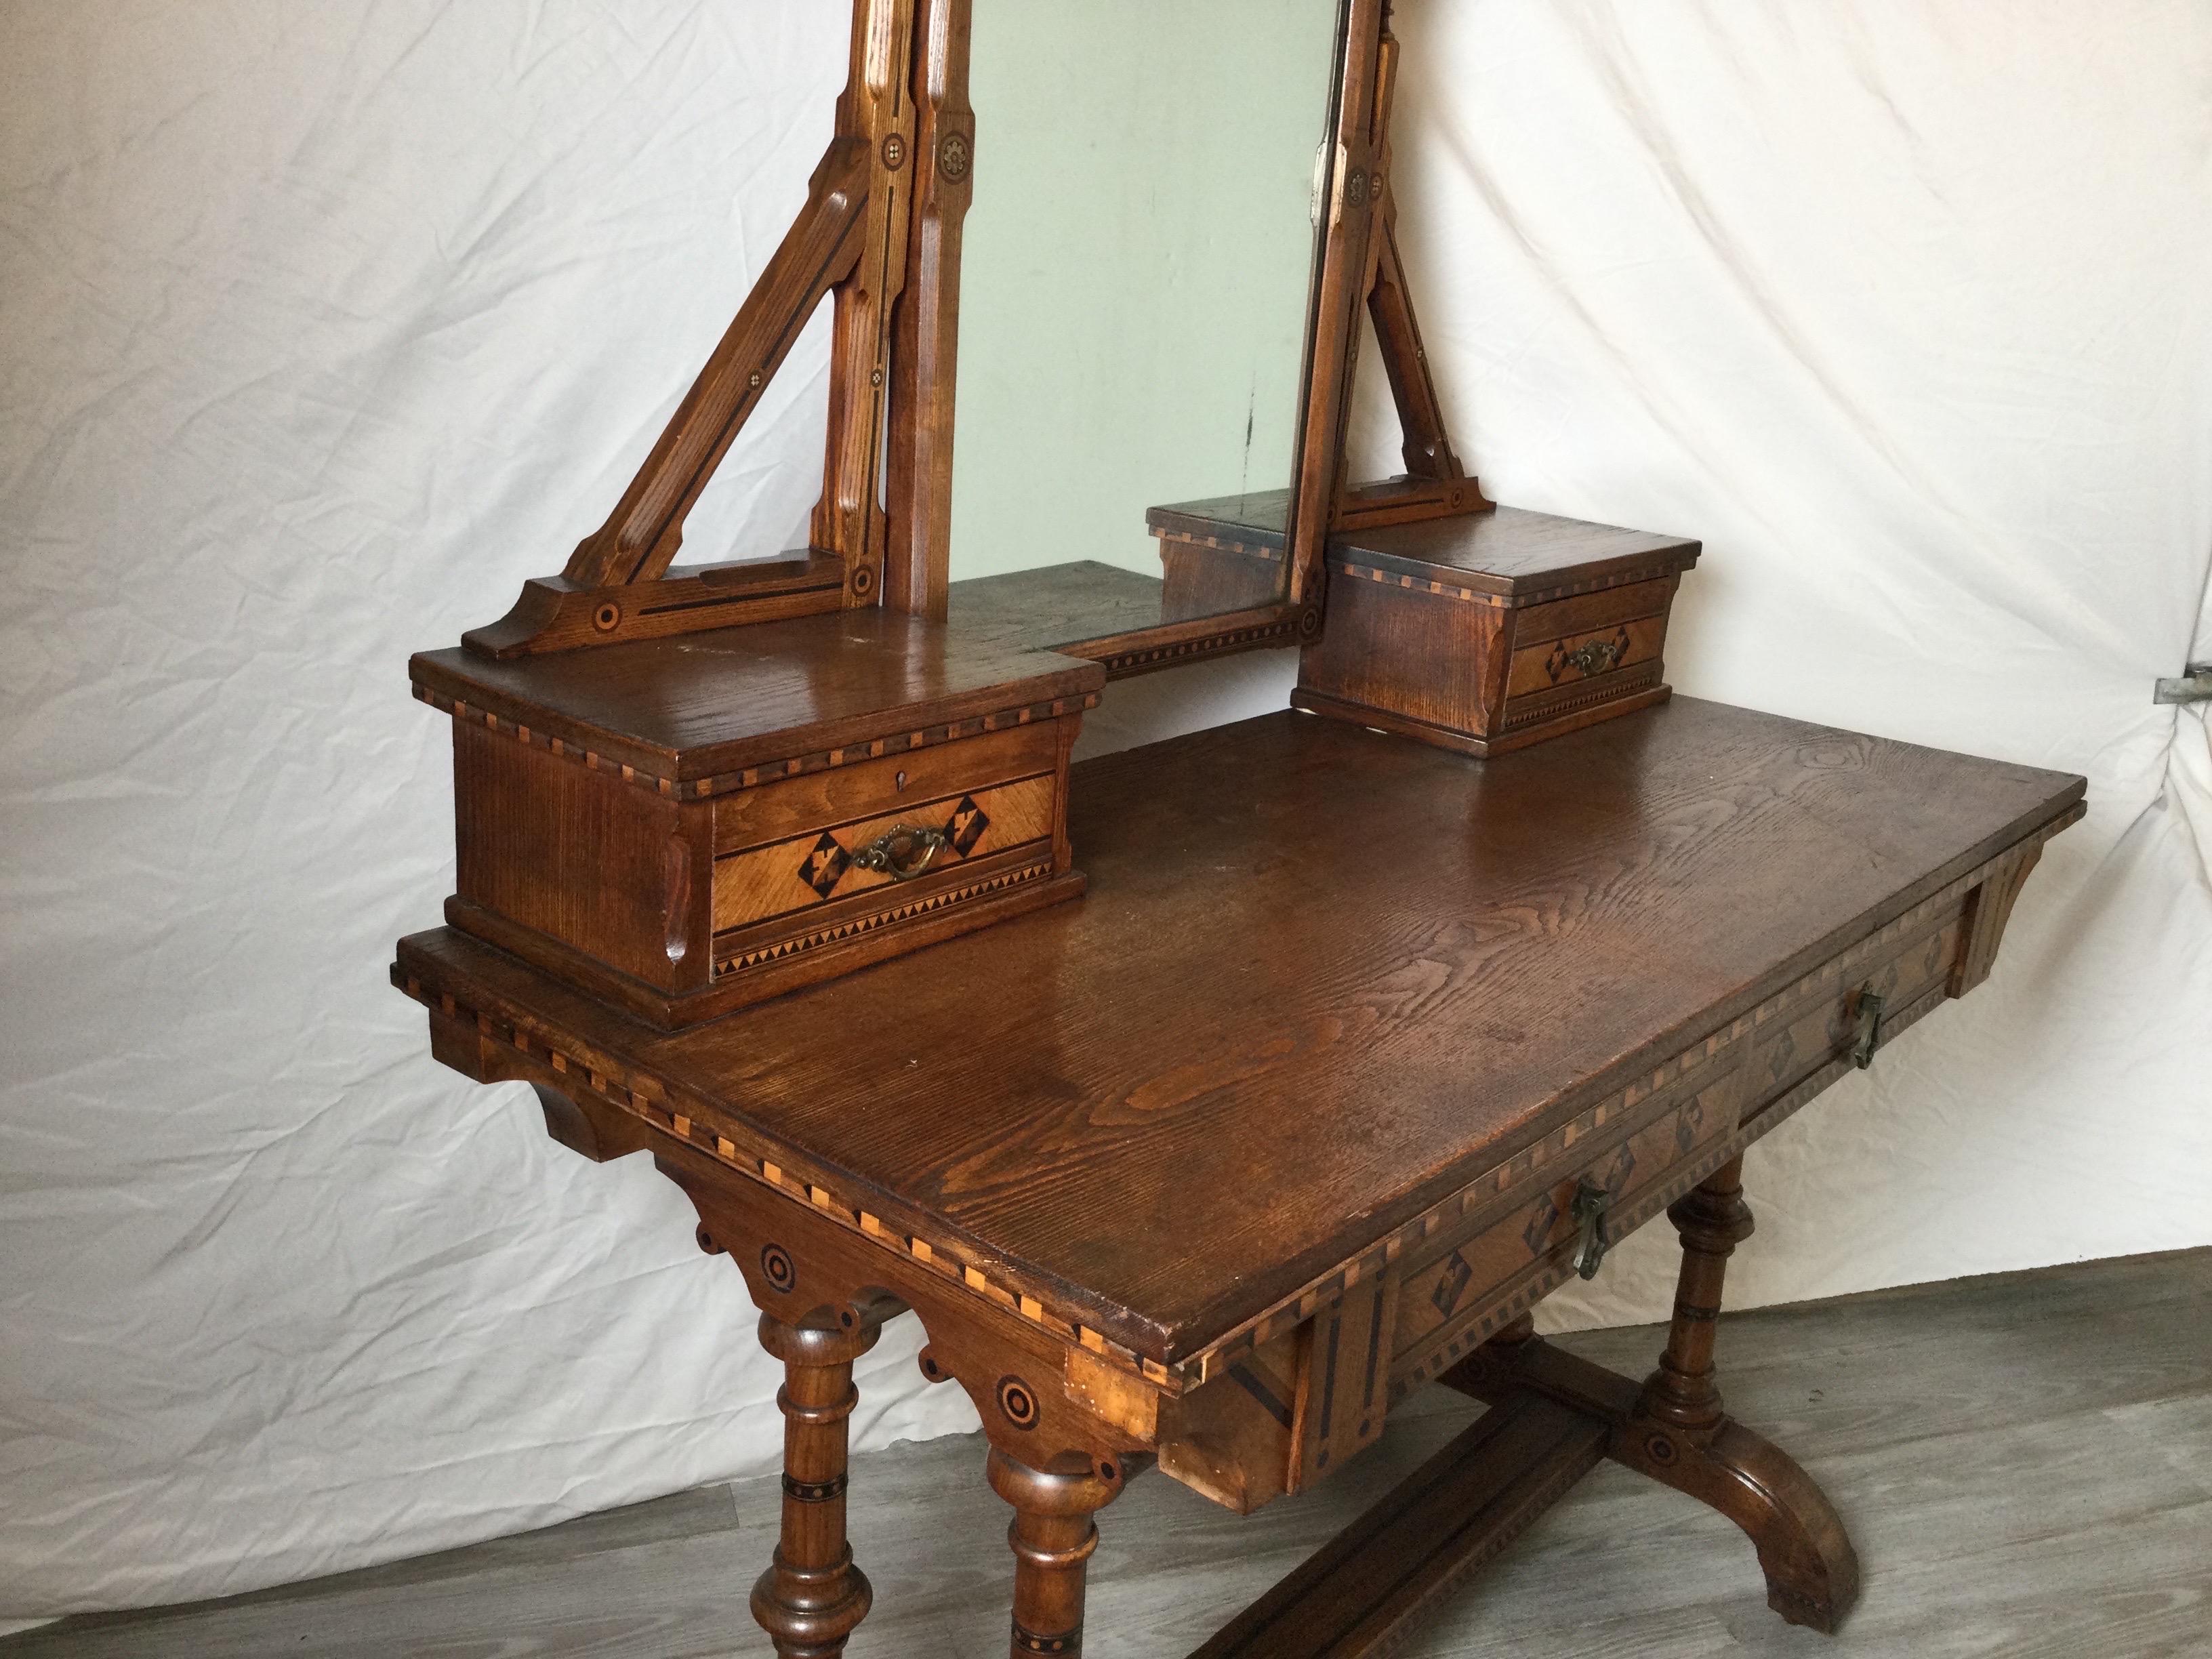
[[[953,580],[1292,482],[1338,0],[975,0]]]

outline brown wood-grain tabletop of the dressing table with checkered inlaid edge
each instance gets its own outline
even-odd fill
[[[394,978],[1172,1365],[2081,792],[1692,699],[1491,761],[1283,712],[1079,765],[1084,900],[706,1026],[451,929]]]

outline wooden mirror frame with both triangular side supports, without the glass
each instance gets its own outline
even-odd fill
[[[471,650],[507,659],[860,606],[936,622],[951,615],[960,254],[978,161],[971,38],[973,0],[852,0],[849,80],[807,206],[606,524],[562,575],[531,580],[507,617],[465,635]],[[1285,546],[1283,597],[1124,630],[1086,630],[1066,606],[1024,613],[1015,604],[958,617],[962,630],[1088,657],[1108,675],[1310,641],[1323,626],[1332,531],[1489,504],[1471,480],[1469,489],[1455,482],[1411,307],[1398,307],[1409,345],[1394,349],[1387,325],[1396,314],[1387,296],[1402,301],[1389,192],[1394,73],[1389,0],[1338,0],[1323,137],[1334,155],[1314,237],[1294,473],[1285,524],[1267,526]],[[834,305],[830,434],[810,546],[779,560],[677,566],[684,520],[825,299]],[[1416,462],[1413,478],[1376,487],[1387,500],[1345,482],[1363,303],[1376,316]],[[1420,385],[1409,394],[1407,380]],[[1422,387],[1431,434],[1416,434]]]

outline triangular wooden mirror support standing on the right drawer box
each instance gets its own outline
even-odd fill
[[[1389,117],[1398,91],[1398,40],[1389,0],[1352,0],[1347,86],[1338,108],[1336,177],[1312,349],[1312,396],[1301,438],[1292,597],[1321,591],[1327,538],[1338,531],[1482,513],[1493,502],[1467,476],[1444,431],[1444,407],[1420,343],[1391,181]],[[1400,478],[1349,482],[1352,383],[1358,312],[1374,323],[1405,434]]]

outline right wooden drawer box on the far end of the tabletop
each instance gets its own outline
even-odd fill
[[[1329,542],[1292,703],[1502,754],[1663,701],[1666,626],[1699,544],[1500,507]]]

